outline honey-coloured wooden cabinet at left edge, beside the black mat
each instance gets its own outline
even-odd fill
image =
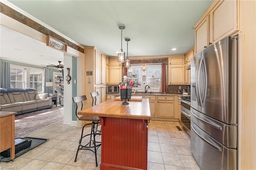
[[[0,152],[10,149],[12,161],[15,158],[15,114],[0,111]]]

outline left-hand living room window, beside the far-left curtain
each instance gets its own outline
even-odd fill
[[[22,68],[10,67],[11,72],[11,88],[23,88],[24,87],[24,72]]]

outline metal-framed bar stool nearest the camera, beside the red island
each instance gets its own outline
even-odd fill
[[[77,110],[78,110],[78,103],[81,102],[81,110],[83,107],[83,101],[86,101],[86,95],[83,96],[78,96],[78,97],[72,97],[73,102],[76,103],[76,117],[78,118],[79,121],[90,121],[92,123],[87,123],[82,127],[82,133],[81,133],[81,138],[79,140],[79,145],[78,145],[78,149],[76,151],[76,158],[78,155],[78,151],[79,150],[90,150],[92,152],[94,152],[95,154],[95,161],[96,161],[96,166],[98,166],[98,162],[97,162],[97,149],[101,146],[101,142],[97,142],[95,140],[95,136],[99,133],[96,133],[96,128],[95,125],[98,126],[99,123],[99,117],[97,116],[82,116],[82,117],[78,117],[77,115]],[[91,126],[91,133],[89,134],[83,134],[84,133],[84,128],[86,126],[90,125]],[[88,141],[86,141],[86,144],[82,144],[82,140],[85,139],[86,136],[90,136],[90,138],[88,139]],[[74,162],[76,162],[76,158],[74,160]]]

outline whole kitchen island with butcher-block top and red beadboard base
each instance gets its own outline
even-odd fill
[[[151,119],[148,99],[108,100],[83,109],[78,115],[100,117],[102,124],[100,170],[146,170],[148,157],[148,120]]]

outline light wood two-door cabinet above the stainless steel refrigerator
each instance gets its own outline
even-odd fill
[[[238,1],[214,1],[195,29],[195,53],[236,32],[238,26]]]

